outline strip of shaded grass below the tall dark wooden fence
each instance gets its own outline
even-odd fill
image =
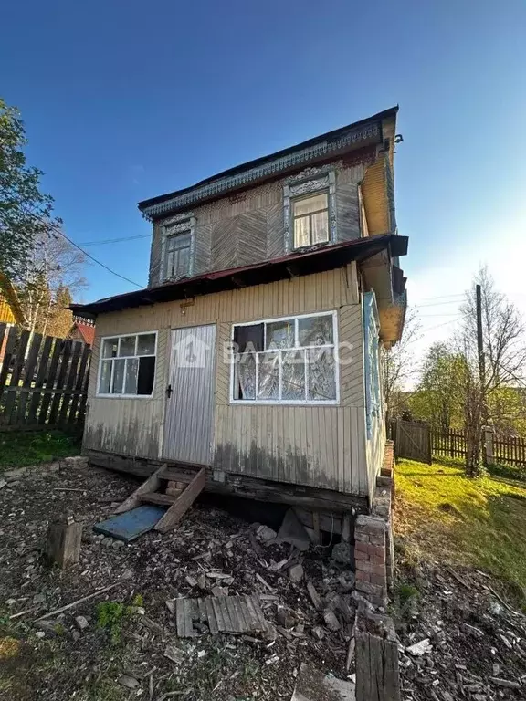
[[[81,438],[62,431],[9,431],[0,433],[0,473],[13,467],[49,463],[79,455]]]

